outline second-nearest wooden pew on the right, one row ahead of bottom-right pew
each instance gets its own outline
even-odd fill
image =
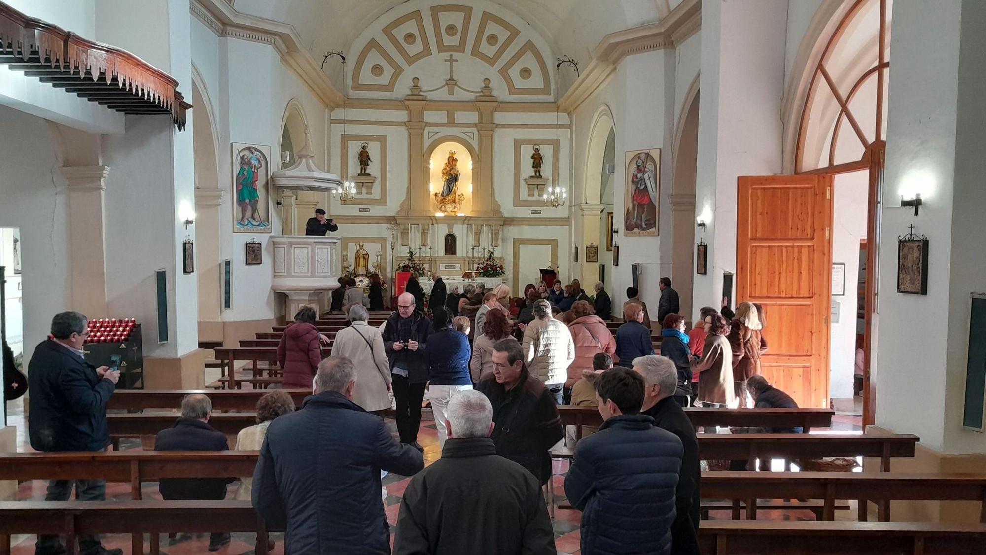
[[[979,501],[986,523],[986,474],[908,474],[859,472],[702,472],[703,499],[746,501],[746,519],[756,520],[757,499],[820,499],[822,520],[835,518],[835,501]],[[861,503],[860,520],[866,520]],[[734,505],[734,520],[739,519]],[[880,520],[889,521],[889,510]]]

